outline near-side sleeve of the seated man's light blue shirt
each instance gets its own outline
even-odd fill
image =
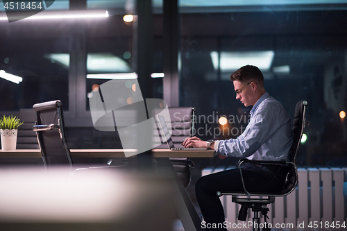
[[[242,135],[236,139],[219,141],[217,152],[228,157],[253,155],[279,128],[279,119],[279,115],[274,113],[270,105],[258,107]]]

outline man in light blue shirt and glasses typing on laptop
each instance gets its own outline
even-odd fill
[[[290,119],[282,105],[264,89],[260,69],[246,65],[231,76],[236,99],[246,107],[253,105],[248,126],[237,139],[185,139],[183,146],[212,148],[220,157],[246,157],[249,160],[287,160],[293,132]],[[246,164],[242,169],[247,191],[280,191],[287,176],[287,167],[280,164]],[[239,169],[230,169],[203,176],[196,182],[196,198],[203,218],[215,230],[226,230],[223,207],[217,191],[244,192]]]

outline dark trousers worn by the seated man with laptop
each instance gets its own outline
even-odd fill
[[[274,166],[272,169],[266,166],[245,164],[242,168],[245,187],[248,192],[276,192],[283,188],[287,176],[285,166]],[[223,224],[224,211],[217,191],[244,192],[239,169],[230,169],[213,173],[200,178],[195,185],[196,198],[200,206],[205,223],[210,227],[218,227]],[[216,224],[216,225],[212,225]],[[221,225],[219,226],[221,227]],[[207,230],[226,230],[224,228]]]

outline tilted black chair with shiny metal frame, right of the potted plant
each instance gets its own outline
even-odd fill
[[[44,166],[65,164],[72,165],[70,149],[65,136],[62,102],[59,100],[37,103],[35,110],[37,134]]]

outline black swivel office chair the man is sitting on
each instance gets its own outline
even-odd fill
[[[260,218],[259,212],[262,212],[264,215],[264,223],[266,223],[267,212],[269,212],[269,208],[266,206],[274,203],[275,198],[277,196],[286,196],[294,191],[297,183],[298,183],[298,172],[295,164],[296,153],[298,152],[298,147],[301,142],[301,137],[303,135],[303,129],[305,126],[308,126],[310,123],[306,121],[305,113],[307,107],[307,101],[299,101],[296,103],[296,108],[294,112],[294,121],[293,121],[293,144],[289,150],[289,161],[287,162],[279,162],[279,161],[263,161],[263,160],[248,160],[241,159],[238,163],[238,168],[241,173],[242,185],[244,187],[244,192],[233,192],[233,191],[217,191],[217,196],[222,195],[231,195],[232,202],[238,203],[241,205],[241,209],[239,211],[238,219],[240,221],[246,221],[247,210],[248,208],[252,209],[253,212],[253,230],[260,230]],[[285,164],[289,167],[289,171],[287,173],[287,179],[285,181],[285,185],[282,191],[273,192],[273,193],[258,193],[258,192],[249,192],[247,191],[244,183],[244,178],[242,177],[242,163],[257,163],[257,164]],[[238,196],[264,196],[267,198],[240,198]],[[254,225],[257,224],[257,225]],[[263,230],[271,230],[271,228],[266,228],[264,225]]]

